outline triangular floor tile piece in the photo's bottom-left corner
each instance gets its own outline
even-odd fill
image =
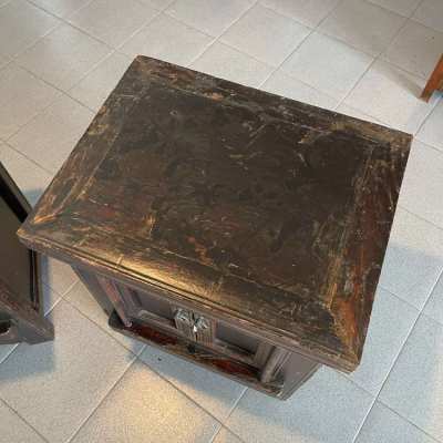
[[[16,412],[0,401],[0,443],[44,443],[44,440]]]

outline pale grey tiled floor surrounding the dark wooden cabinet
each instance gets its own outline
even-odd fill
[[[52,343],[0,348],[0,442],[443,442],[443,0],[0,0],[0,161],[35,203],[147,54],[415,135],[361,367],[278,402],[113,333],[43,268]]]

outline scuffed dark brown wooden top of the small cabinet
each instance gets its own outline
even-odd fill
[[[137,56],[19,235],[351,371],[410,142]]]

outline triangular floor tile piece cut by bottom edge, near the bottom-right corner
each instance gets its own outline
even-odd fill
[[[383,404],[375,402],[356,443],[435,443],[424,432]]]

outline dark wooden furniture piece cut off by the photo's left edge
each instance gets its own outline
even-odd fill
[[[41,311],[39,256],[19,243],[16,230],[30,206],[0,164],[0,344],[53,338]]]

